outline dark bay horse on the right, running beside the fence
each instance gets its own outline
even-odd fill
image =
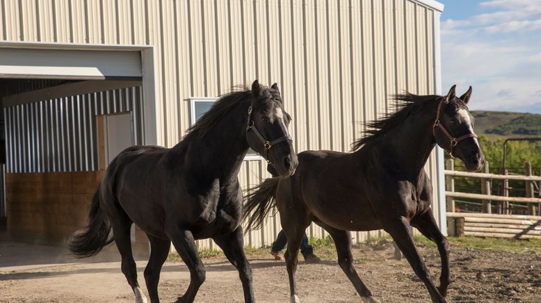
[[[353,153],[304,151],[289,178],[266,179],[248,195],[243,220],[248,229],[261,225],[275,204],[287,235],[286,268],[291,302],[302,235],[311,222],[323,227],[337,247],[338,263],[363,302],[377,302],[361,281],[351,254],[350,231],[384,229],[424,282],[433,302],[445,302],[449,278],[449,244],[437,227],[432,185],[423,169],[437,144],[480,170],[483,152],[467,110],[471,87],[455,97],[398,95],[398,110],[369,124],[368,136],[353,143]],[[433,240],[442,258],[437,288],[414,245],[410,226]]]

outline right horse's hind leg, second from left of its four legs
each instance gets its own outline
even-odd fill
[[[344,273],[351,281],[355,290],[359,293],[362,302],[376,303],[378,300],[372,297],[370,290],[364,285],[361,278],[357,274],[357,270],[353,266],[353,255],[351,254],[351,233],[330,227],[323,222],[315,221],[316,224],[323,227],[334,240],[334,245],[337,247],[338,264],[344,270]]]

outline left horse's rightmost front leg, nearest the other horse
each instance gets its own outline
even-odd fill
[[[252,268],[250,268],[250,263],[248,263],[248,259],[244,254],[242,227],[237,227],[231,234],[214,236],[212,239],[223,250],[227,260],[239,270],[239,277],[244,290],[244,302],[255,302]]]

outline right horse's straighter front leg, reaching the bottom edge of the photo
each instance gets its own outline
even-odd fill
[[[407,261],[410,262],[412,268],[417,275],[423,281],[426,288],[428,288],[428,293],[432,298],[432,302],[446,302],[445,298],[437,290],[432,278],[430,277],[430,272],[421,258],[417,247],[410,231],[410,220],[405,217],[399,217],[394,220],[389,220],[384,222],[383,229],[387,231],[394,242],[403,252]]]

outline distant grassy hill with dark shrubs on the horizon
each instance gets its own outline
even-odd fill
[[[475,132],[489,138],[541,137],[541,115],[472,110]]]

